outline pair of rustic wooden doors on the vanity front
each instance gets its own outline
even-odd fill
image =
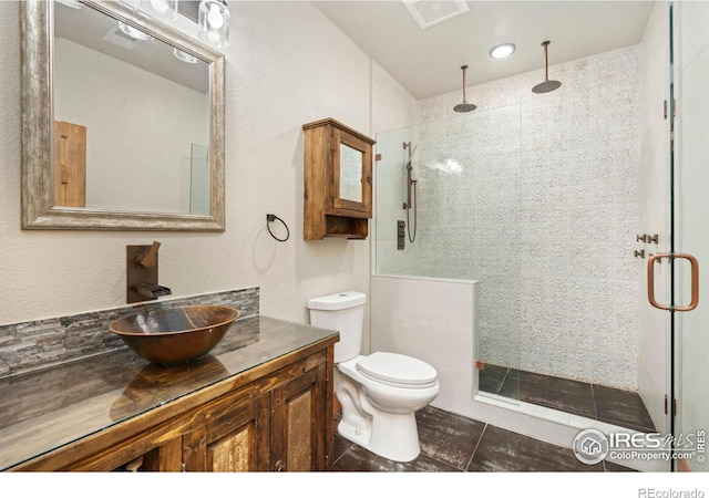
[[[259,381],[250,400],[236,393],[205,406],[206,423],[183,438],[185,470],[327,470],[328,376],[311,360]]]

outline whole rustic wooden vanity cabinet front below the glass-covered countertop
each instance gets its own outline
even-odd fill
[[[329,470],[332,344],[282,356],[17,469],[109,471],[137,463],[138,471]]]

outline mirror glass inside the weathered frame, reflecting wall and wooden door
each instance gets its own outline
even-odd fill
[[[55,184],[85,191],[85,204],[60,196],[54,206],[193,212],[191,153],[209,143],[209,65],[174,50],[95,9],[54,6],[54,122],[83,129],[54,149]]]

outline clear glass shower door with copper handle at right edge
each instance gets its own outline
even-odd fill
[[[677,403],[672,428],[677,452],[691,450],[688,459],[675,460],[674,468],[707,471],[702,439],[709,430],[709,2],[674,2],[670,8],[676,106],[670,173],[676,256],[670,258]],[[702,299],[691,309],[699,290]]]

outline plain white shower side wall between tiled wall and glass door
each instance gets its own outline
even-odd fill
[[[669,251],[669,7],[657,2],[639,45],[640,68],[640,232],[658,235],[658,245],[638,243],[647,252]],[[647,299],[647,272],[638,289],[638,391],[658,430],[667,430],[665,394],[669,393],[669,317]],[[669,264],[655,264],[655,299],[669,302]]]

